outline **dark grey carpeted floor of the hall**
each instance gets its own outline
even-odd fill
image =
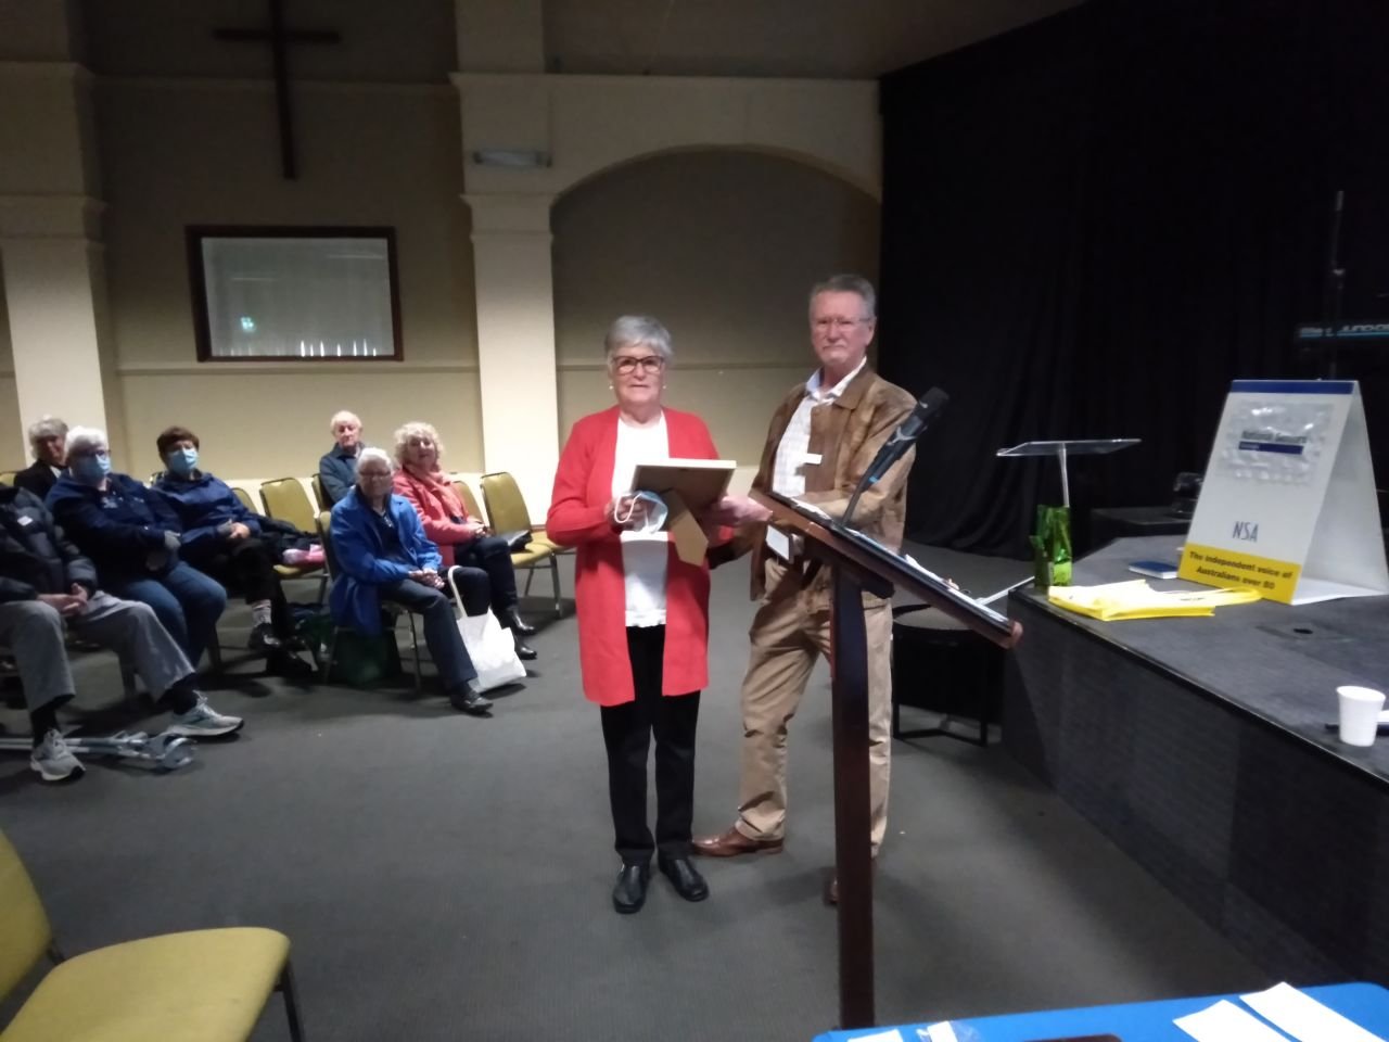
[[[735,816],[746,578],[735,564],[714,581],[701,834]],[[529,602],[529,614],[543,606]],[[488,720],[454,713],[428,684],[417,697],[408,678],[379,690],[257,679],[233,650],[244,609],[221,635],[233,681],[210,695],[247,727],[204,743],[192,767],[156,775],[93,760],[79,784],[49,788],[25,757],[0,754],[0,828],[69,952],[276,927],[293,939],[318,1042],[806,1042],[833,1027],[824,667],[792,725],[785,853],[703,861],[713,896],[701,904],[656,878],[646,909],[619,917],[603,742],[579,693],[572,617],[535,638],[535,677]],[[111,656],[85,656],[79,685],[94,722],[160,727],[119,704]],[[25,725],[19,713],[0,721]],[[999,747],[936,738],[897,743],[893,757],[876,877],[882,1023],[1270,982]],[[188,968],[192,991],[201,973]],[[276,999],[256,1039],[286,1038]]]

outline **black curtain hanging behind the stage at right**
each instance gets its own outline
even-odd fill
[[[1143,439],[1072,463],[1082,538],[1168,502],[1231,379],[1318,375],[1336,189],[1343,314],[1389,318],[1386,47],[1385,0],[1092,0],[882,81],[879,370],[951,396],[913,538],[1024,554],[1056,465],[993,453],[1032,439]],[[1343,357],[1378,447],[1389,347]]]

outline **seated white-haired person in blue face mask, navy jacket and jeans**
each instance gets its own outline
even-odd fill
[[[164,497],[111,471],[104,431],[74,427],[67,452],[68,472],[49,492],[53,518],[96,564],[101,589],[154,609],[196,667],[217,636],[226,590],[179,560],[181,525]]]

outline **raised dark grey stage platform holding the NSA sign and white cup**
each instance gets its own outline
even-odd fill
[[[1120,539],[1075,584],[1178,542]],[[1325,728],[1338,685],[1389,685],[1389,597],[1099,622],[1024,588],[1008,614],[1013,756],[1272,977],[1389,979],[1389,736]]]

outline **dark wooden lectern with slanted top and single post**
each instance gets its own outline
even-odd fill
[[[872,971],[872,841],[868,795],[868,639],[863,595],[890,597],[900,586],[1000,647],[1022,627],[954,589],[876,540],[822,511],[775,492],[751,499],[770,524],[799,534],[806,556],[832,575],[831,657],[835,727],[835,871],[839,879],[839,1027],[875,1023]]]

